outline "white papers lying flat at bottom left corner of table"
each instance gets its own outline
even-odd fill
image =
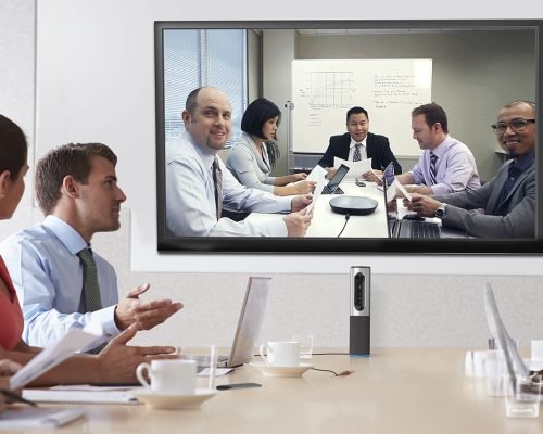
[[[0,430],[52,429],[65,425],[86,412],[83,408],[14,408],[0,416]]]

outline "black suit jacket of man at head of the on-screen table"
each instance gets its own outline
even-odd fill
[[[333,157],[349,159],[349,144],[351,143],[351,135],[345,132],[341,136],[330,137],[330,144],[319,159],[318,164],[323,167],[333,167]],[[389,144],[389,139],[384,136],[374,135],[368,132],[366,140],[366,154],[371,158],[371,167],[374,169],[382,170],[389,165],[394,164],[394,174],[402,173],[402,166],[397,163],[396,157],[392,153]]]

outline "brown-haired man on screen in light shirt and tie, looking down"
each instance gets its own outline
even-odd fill
[[[440,105],[430,103],[413,110],[412,129],[424,152],[412,170],[396,177],[408,184],[409,193],[449,194],[481,186],[473,154],[449,136],[446,114]]]

